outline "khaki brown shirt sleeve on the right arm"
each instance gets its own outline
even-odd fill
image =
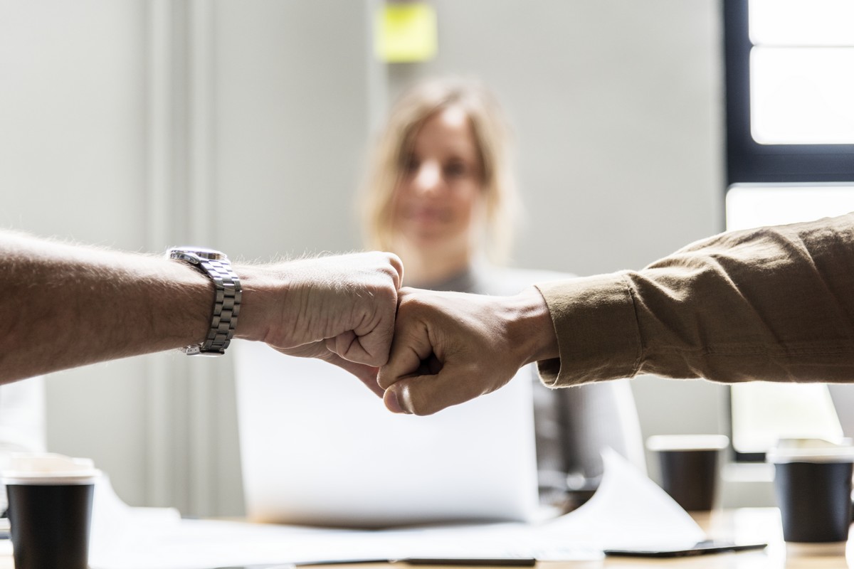
[[[733,231],[640,271],[537,286],[548,386],[657,374],[854,381],[854,214]]]

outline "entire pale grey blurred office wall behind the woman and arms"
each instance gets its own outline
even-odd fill
[[[371,132],[412,80],[459,73],[516,129],[513,264],[637,269],[723,229],[719,0],[430,4],[436,56],[388,63],[379,0],[0,1],[0,226],[244,259],[358,249]],[[240,514],[228,357],[187,359],[49,377],[49,449],[91,456],[131,504]],[[725,432],[722,386],[634,390],[645,436]]]

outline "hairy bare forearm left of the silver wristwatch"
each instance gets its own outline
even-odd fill
[[[202,341],[213,287],[166,258],[0,231],[0,382]]]

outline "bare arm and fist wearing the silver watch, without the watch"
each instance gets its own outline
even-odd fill
[[[236,337],[376,377],[402,278],[394,255],[234,269],[243,284]],[[0,286],[0,382],[201,342],[213,305],[208,277],[187,264],[8,231]]]

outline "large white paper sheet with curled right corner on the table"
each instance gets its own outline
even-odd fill
[[[591,560],[605,547],[682,545],[705,536],[664,491],[606,450],[593,498],[539,525],[430,526],[366,531],[181,520],[172,509],[128,508],[108,484],[96,491],[92,569],[211,569],[266,563],[407,557],[535,556]]]

